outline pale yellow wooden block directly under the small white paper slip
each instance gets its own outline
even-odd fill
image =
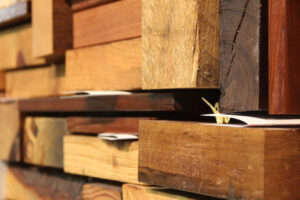
[[[138,142],[65,136],[64,171],[101,179],[138,183]]]

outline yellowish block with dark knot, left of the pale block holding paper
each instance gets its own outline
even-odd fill
[[[63,136],[67,134],[65,118],[26,117],[23,139],[24,162],[63,168]]]

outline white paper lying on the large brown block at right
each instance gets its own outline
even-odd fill
[[[201,116],[206,117],[230,117],[231,119],[236,119],[244,122],[247,127],[251,126],[300,126],[300,119],[276,119],[271,118],[259,118],[252,116],[244,116],[244,115],[227,115],[227,114],[204,114]]]

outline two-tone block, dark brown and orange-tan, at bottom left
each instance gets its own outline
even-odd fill
[[[9,166],[6,177],[6,199],[22,200],[82,200],[86,183],[83,178],[61,171]]]

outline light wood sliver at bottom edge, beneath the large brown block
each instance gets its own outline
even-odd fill
[[[122,186],[123,200],[217,200],[176,190],[169,190],[154,186],[124,184]]]

